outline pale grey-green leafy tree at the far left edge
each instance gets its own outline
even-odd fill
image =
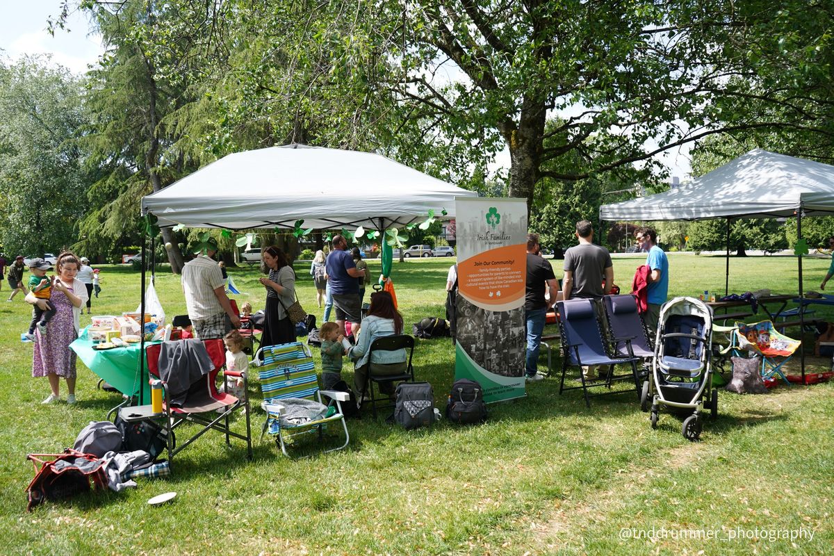
[[[77,139],[82,86],[38,57],[0,60],[0,243],[6,253],[69,248],[86,208]],[[93,253],[89,253],[93,254]]]

